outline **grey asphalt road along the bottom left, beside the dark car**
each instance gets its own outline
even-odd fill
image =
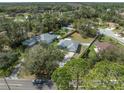
[[[32,80],[12,80],[7,79],[8,85],[10,86],[11,90],[55,90],[56,87],[54,85],[39,85],[34,86],[32,84]],[[3,79],[0,79],[0,90],[8,90],[8,87]]]

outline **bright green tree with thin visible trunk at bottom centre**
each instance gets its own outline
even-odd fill
[[[65,67],[69,68],[69,73],[72,75],[72,80],[76,82],[76,88],[78,89],[80,82],[83,81],[82,77],[88,72],[88,64],[81,58],[72,59],[65,64]]]

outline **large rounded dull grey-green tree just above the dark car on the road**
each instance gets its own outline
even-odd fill
[[[38,44],[32,47],[27,54],[27,66],[36,78],[50,79],[63,57],[63,52],[56,47]]]

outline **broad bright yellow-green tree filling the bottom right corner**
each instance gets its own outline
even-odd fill
[[[107,61],[99,62],[86,75],[84,89],[124,89],[124,65]]]

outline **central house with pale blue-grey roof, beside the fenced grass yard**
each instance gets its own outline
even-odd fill
[[[75,42],[69,38],[60,40],[60,42],[58,43],[58,45],[62,48],[66,48],[69,52],[77,52],[77,49],[79,47],[79,43]]]

